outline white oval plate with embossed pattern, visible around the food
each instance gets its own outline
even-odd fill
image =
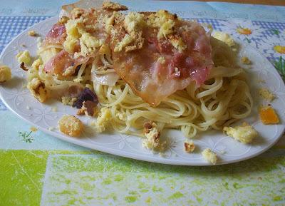
[[[95,134],[90,130],[86,130],[82,138],[71,138],[63,135],[56,127],[59,118],[63,114],[76,114],[76,109],[63,105],[59,102],[49,102],[42,104],[31,96],[26,84],[25,72],[19,68],[16,61],[16,53],[28,49],[31,56],[36,57],[36,38],[28,36],[28,30],[34,30],[42,37],[51,29],[51,26],[57,21],[57,17],[41,21],[23,33],[16,36],[11,43],[4,49],[1,54],[0,61],[8,65],[12,69],[13,78],[11,81],[1,84],[0,96],[5,105],[20,118],[26,120],[31,125],[36,126],[40,130],[49,135],[53,135],[61,140],[81,145],[86,148],[100,150],[105,153],[120,155],[127,158],[137,160],[145,160],[155,163],[164,163],[171,165],[210,165],[201,155],[204,148],[211,148],[217,153],[219,160],[218,165],[239,162],[253,158],[265,150],[268,150],[281,137],[284,132],[284,111],[285,111],[285,86],[281,77],[271,65],[271,63],[262,56],[255,48],[249,45],[241,44],[241,56],[247,56],[252,60],[252,68],[247,69],[250,79],[250,87],[252,96],[254,97],[254,109],[252,115],[246,119],[248,123],[254,125],[259,133],[259,138],[254,143],[244,145],[232,138],[225,136],[222,132],[208,131],[202,133],[194,140],[197,145],[195,153],[185,153],[183,144],[185,137],[177,130],[168,130],[163,133],[164,136],[170,138],[170,147],[163,154],[152,153],[152,151],[142,148],[141,138],[122,135],[119,133]],[[23,44],[25,47],[23,47]],[[266,83],[259,83],[259,80],[265,80]],[[271,105],[276,109],[281,119],[279,125],[263,125],[257,113],[257,107],[261,103],[266,104],[258,94],[260,87],[269,88],[277,96]],[[53,107],[58,108],[56,112]],[[86,125],[93,120],[88,117],[79,117]],[[54,127],[51,131],[48,128]]]

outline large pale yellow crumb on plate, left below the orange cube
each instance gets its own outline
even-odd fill
[[[242,125],[235,127],[224,127],[223,130],[229,135],[229,137],[234,138],[234,140],[239,140],[241,143],[247,144],[252,143],[252,140],[257,137],[257,130],[249,125],[248,123],[242,123]]]

